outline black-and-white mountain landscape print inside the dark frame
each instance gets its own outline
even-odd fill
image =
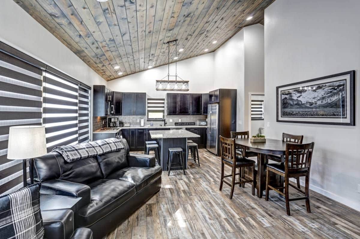
[[[346,80],[281,90],[282,117],[346,118]]]

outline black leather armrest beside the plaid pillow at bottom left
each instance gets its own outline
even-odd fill
[[[74,213],[69,209],[41,211],[45,238],[68,239],[74,231]]]

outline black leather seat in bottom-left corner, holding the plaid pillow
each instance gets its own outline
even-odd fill
[[[93,239],[89,228],[74,230],[74,215],[69,209],[41,210],[44,238],[47,239]]]

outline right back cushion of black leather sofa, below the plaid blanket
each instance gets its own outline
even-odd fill
[[[98,155],[100,169],[106,178],[109,174],[128,167],[126,159],[126,149],[121,149],[115,152]]]

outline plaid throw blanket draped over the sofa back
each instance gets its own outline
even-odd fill
[[[122,142],[115,138],[96,140],[88,143],[55,147],[51,152],[61,154],[67,162],[85,159],[124,148]]]

